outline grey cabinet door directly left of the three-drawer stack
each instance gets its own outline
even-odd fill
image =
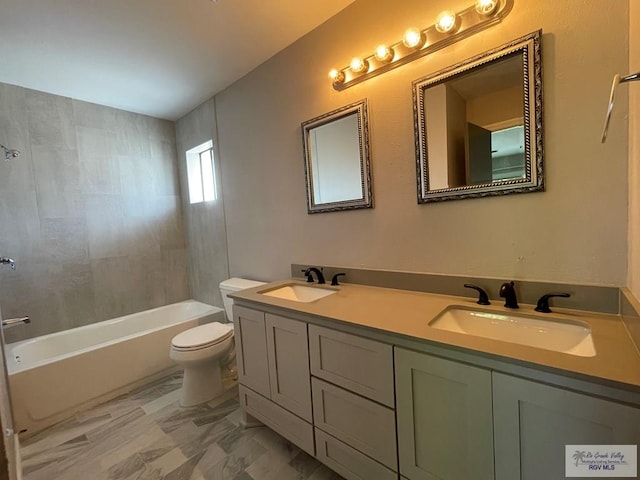
[[[271,314],[266,324],[271,400],[311,422],[307,324]]]

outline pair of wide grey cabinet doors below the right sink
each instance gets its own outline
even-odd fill
[[[398,347],[395,362],[408,480],[560,480],[565,445],[640,444],[638,408]]]

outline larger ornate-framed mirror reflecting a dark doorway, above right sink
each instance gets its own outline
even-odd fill
[[[544,190],[540,37],[413,82],[418,203]]]

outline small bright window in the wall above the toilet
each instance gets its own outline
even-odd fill
[[[218,198],[213,141],[187,150],[187,181],[189,203],[211,202]]]

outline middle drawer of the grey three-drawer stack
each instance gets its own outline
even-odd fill
[[[311,387],[316,427],[397,471],[393,410],[317,378]]]

